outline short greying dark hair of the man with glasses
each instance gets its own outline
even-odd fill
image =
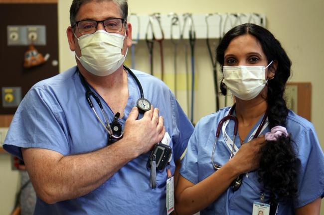
[[[125,19],[125,22],[127,22],[127,16],[128,16],[128,3],[127,0],[73,0],[71,7],[70,7],[70,24],[72,27],[75,25],[75,17],[77,13],[79,12],[79,9],[83,3],[87,3],[90,1],[113,1],[115,2],[120,9],[120,13],[122,15],[122,18]]]

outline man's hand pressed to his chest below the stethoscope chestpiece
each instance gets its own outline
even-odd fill
[[[124,141],[130,143],[138,155],[149,151],[155,143],[162,141],[165,133],[163,117],[159,117],[159,109],[152,106],[144,113],[142,119],[137,120],[139,110],[134,107],[125,123]]]

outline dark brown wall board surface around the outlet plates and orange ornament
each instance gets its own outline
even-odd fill
[[[0,88],[3,90],[3,87],[19,87],[23,98],[36,82],[59,72],[57,3],[2,2],[0,1]],[[7,26],[16,25],[45,26],[46,44],[35,45],[35,48],[42,55],[49,54],[46,63],[29,69],[23,68],[28,45],[9,46],[7,43]],[[0,95],[2,97],[2,93]],[[0,117],[4,114],[14,114],[16,107],[3,107],[2,103],[0,99]]]

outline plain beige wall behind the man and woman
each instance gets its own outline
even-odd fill
[[[72,0],[58,0],[59,14],[59,63],[60,71],[75,65],[73,53],[69,51],[66,28],[69,25],[69,7]],[[161,3],[162,2],[162,3]],[[199,3],[197,3],[199,2]],[[322,147],[324,146],[324,117],[321,108],[324,106],[323,92],[323,63],[324,63],[324,20],[323,0],[129,0],[130,12],[149,14],[153,12],[257,12],[267,16],[267,28],[282,42],[293,62],[293,77],[291,81],[312,83],[312,122],[318,132]],[[149,8],[149,9],[148,9]],[[165,44],[166,83],[172,87],[172,46],[169,41]],[[156,45],[158,47],[158,45]],[[156,49],[158,56],[158,48]],[[183,53],[183,45],[180,47]],[[148,51],[145,42],[140,42],[136,49],[137,68],[149,72]],[[184,55],[179,54],[178,65],[182,63]],[[159,59],[155,59],[155,71],[159,71]],[[197,41],[196,45],[196,80],[194,121],[204,115],[214,112],[214,89],[212,83],[211,66],[204,41]],[[184,75],[183,66],[180,75]],[[181,82],[182,85],[184,82]],[[180,87],[181,88],[181,87]],[[185,91],[178,91],[178,100],[186,110]],[[9,215],[14,204],[14,192],[19,184],[18,173],[9,169],[10,159],[7,155],[0,155],[0,215]],[[2,192],[3,191],[3,192]],[[6,195],[3,195],[6,194]],[[324,215],[324,203],[322,203]]]

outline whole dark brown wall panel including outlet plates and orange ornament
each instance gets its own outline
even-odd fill
[[[0,20],[0,115],[14,114],[36,82],[58,74],[57,3],[0,3]]]

